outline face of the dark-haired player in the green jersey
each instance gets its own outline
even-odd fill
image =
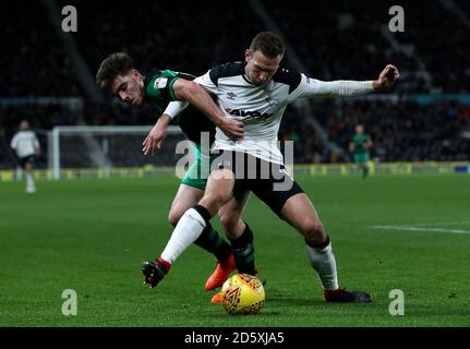
[[[111,83],[111,94],[132,107],[144,104],[144,82],[137,70],[118,75]]]

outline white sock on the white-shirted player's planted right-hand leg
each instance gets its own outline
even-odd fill
[[[332,251],[332,242],[326,248],[314,249],[306,245],[310,264],[318,274],[323,289],[333,291],[338,289],[338,273],[336,272],[335,255]]]

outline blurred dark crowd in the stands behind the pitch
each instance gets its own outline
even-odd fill
[[[468,2],[454,2],[468,19]],[[242,60],[251,38],[266,29],[248,0],[225,4],[228,11],[216,1],[55,3],[58,9],[76,7],[79,32],[71,35],[92,74],[108,53],[126,51],[144,74],[171,69],[200,75],[216,64]],[[390,20],[386,1],[261,3],[291,46],[293,52],[282,62],[287,68],[292,68],[296,53],[305,73],[320,80],[371,80],[387,63],[395,63],[401,72],[391,92],[400,97],[394,103],[313,100],[308,116],[288,108],[279,136],[296,142],[298,163],[348,161],[348,143],[357,123],[363,123],[371,134],[373,156],[381,161],[470,159],[468,105],[455,100],[418,104],[402,98],[469,93],[470,48],[465,38],[470,37],[470,29],[442,2],[400,1],[406,31],[393,34],[391,41],[382,33]],[[81,113],[88,124],[155,123],[158,116],[150,108],[134,111],[107,97],[104,104],[88,99],[43,2],[5,0],[1,7],[0,98],[81,97]],[[24,118],[45,130],[77,122],[67,106],[7,105],[0,105],[0,135],[5,140]],[[325,147],[309,118],[315,118],[329,142],[344,152]]]

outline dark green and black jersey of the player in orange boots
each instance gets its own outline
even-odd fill
[[[178,79],[193,80],[194,76],[170,70],[159,71],[148,79],[144,76],[145,101],[154,106],[158,113],[161,115],[170,101],[178,99],[173,92],[173,84]],[[192,105],[177,116],[172,123],[178,124],[188,139],[196,144],[201,143],[201,132],[209,132],[210,144],[214,142],[214,123]]]

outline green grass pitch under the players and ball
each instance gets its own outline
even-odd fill
[[[297,179],[332,237],[340,285],[373,303],[326,303],[302,237],[255,197],[245,219],[267,302],[232,316],[209,303],[215,260],[197,246],[156,289],[142,285],[142,262],[171,232],[174,177],[38,182],[34,195],[15,182],[0,183],[0,326],[470,326],[470,176]],[[64,289],[77,292],[76,316],[61,312]],[[403,316],[389,314],[393,289]]]

